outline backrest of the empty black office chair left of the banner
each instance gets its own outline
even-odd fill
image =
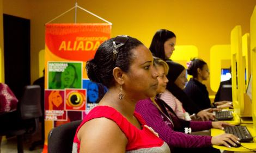
[[[24,87],[20,105],[21,119],[33,119],[42,116],[41,93],[39,85],[28,85]]]

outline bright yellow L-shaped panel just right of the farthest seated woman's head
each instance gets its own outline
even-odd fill
[[[231,60],[230,45],[215,45],[210,49],[211,90],[217,92],[221,82],[221,60]]]

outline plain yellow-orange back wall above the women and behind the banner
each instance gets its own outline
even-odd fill
[[[31,78],[34,81],[39,77],[38,53],[44,49],[44,24],[73,7],[75,1],[2,1],[4,13],[31,19]],[[177,45],[196,46],[199,57],[210,65],[210,48],[216,44],[230,44],[230,31],[235,25],[242,26],[242,34],[249,32],[249,20],[256,1],[95,0],[78,1],[78,5],[112,22],[112,36],[131,35],[147,47],[156,30],[172,30],[177,36]],[[29,14],[26,14],[27,11],[30,11]],[[74,22],[74,11],[60,17],[56,22]],[[78,22],[101,21],[86,12],[78,11]],[[209,84],[208,80],[206,85],[212,94]]]

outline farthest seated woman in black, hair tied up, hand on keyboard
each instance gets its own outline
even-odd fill
[[[213,103],[209,99],[209,93],[203,81],[208,80],[210,71],[208,65],[202,59],[194,58],[188,63],[187,73],[193,78],[188,81],[184,92],[196,103],[200,109],[217,107],[220,109],[233,108],[231,101],[218,101]]]

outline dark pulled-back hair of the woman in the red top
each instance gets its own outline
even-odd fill
[[[113,69],[119,67],[122,71],[128,72],[133,55],[131,50],[142,45],[142,42],[135,38],[124,38],[127,40],[123,46],[117,49],[118,53],[113,60],[113,41],[120,39],[120,37],[123,39],[124,36],[117,36],[103,42],[97,49],[94,59],[86,64],[88,78],[93,82],[105,85],[107,88],[114,85]]]

